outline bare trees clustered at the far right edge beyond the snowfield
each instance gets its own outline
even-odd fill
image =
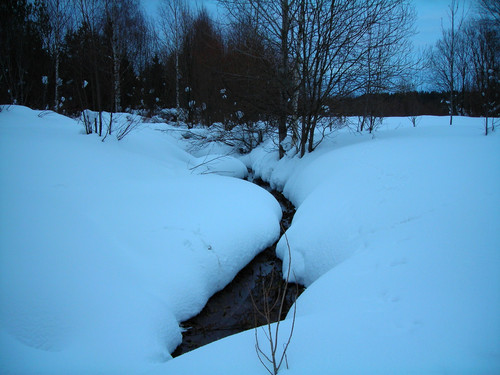
[[[431,79],[447,93],[450,114],[500,114],[500,2],[478,0],[475,8],[450,0],[449,27],[427,54]]]

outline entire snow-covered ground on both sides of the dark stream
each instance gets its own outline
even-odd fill
[[[37,115],[0,113],[0,372],[265,374],[253,331],[162,359],[276,238],[277,203],[212,174],[238,161],[167,134],[101,143]],[[303,159],[241,158],[298,208],[287,239],[308,288],[280,373],[500,373],[500,136],[482,126],[392,118]]]

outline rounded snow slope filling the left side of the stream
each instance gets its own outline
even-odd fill
[[[52,112],[0,112],[0,373],[141,373],[279,235],[274,198],[233,158],[169,136],[81,134]],[[242,172],[244,171],[244,172]],[[207,174],[209,173],[209,174]]]

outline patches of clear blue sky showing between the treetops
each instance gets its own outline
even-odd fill
[[[141,0],[146,12],[155,15],[158,4],[162,0]],[[470,4],[476,0],[459,0],[465,4],[465,8],[470,8]],[[209,13],[217,18],[217,0],[188,0],[193,7],[204,6]],[[423,49],[428,45],[433,45],[441,36],[441,24],[448,25],[448,13],[451,0],[413,0],[417,11],[415,28],[417,35],[413,38],[413,43],[417,49]]]

